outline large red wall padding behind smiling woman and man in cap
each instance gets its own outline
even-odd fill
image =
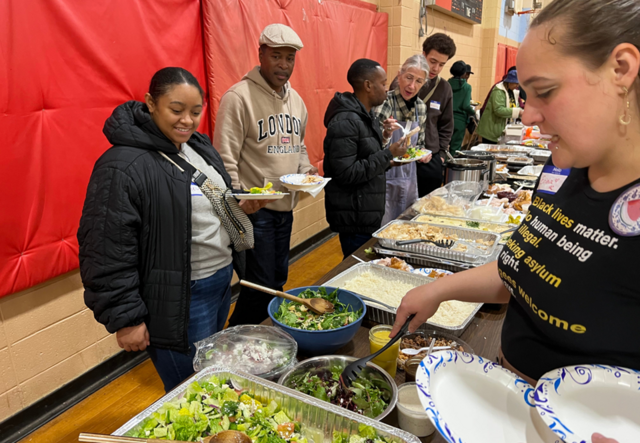
[[[348,66],[360,57],[386,65],[387,15],[374,10],[357,0],[1,1],[0,297],[77,268],[87,183],[109,147],[104,121],[142,100],[162,67],[210,85],[215,116],[221,95],[257,64],[262,28],[292,26],[305,44],[292,83],[320,163],[324,111],[349,89]],[[199,130],[211,134],[210,120]]]

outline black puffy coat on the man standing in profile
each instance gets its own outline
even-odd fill
[[[355,95],[336,93],[324,116],[327,221],[334,232],[371,234],[384,216],[385,171],[393,156],[382,147],[378,119]]]

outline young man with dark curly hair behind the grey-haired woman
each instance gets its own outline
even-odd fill
[[[433,158],[429,163],[417,165],[420,197],[442,186],[443,151],[449,149],[453,135],[453,93],[440,72],[456,55],[456,44],[448,35],[436,33],[422,43],[422,54],[429,65],[429,81],[420,89],[418,97],[427,105],[425,147],[433,153]],[[397,85],[396,78],[389,89]]]

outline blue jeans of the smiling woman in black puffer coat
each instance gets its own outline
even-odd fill
[[[154,346],[147,348],[166,392],[193,374],[193,358],[196,356],[196,348],[193,344],[224,328],[231,306],[232,275],[233,266],[229,265],[211,277],[191,281],[191,305],[187,329],[189,354]]]

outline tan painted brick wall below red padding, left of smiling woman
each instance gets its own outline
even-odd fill
[[[0,299],[0,421],[119,351],[73,271]]]

